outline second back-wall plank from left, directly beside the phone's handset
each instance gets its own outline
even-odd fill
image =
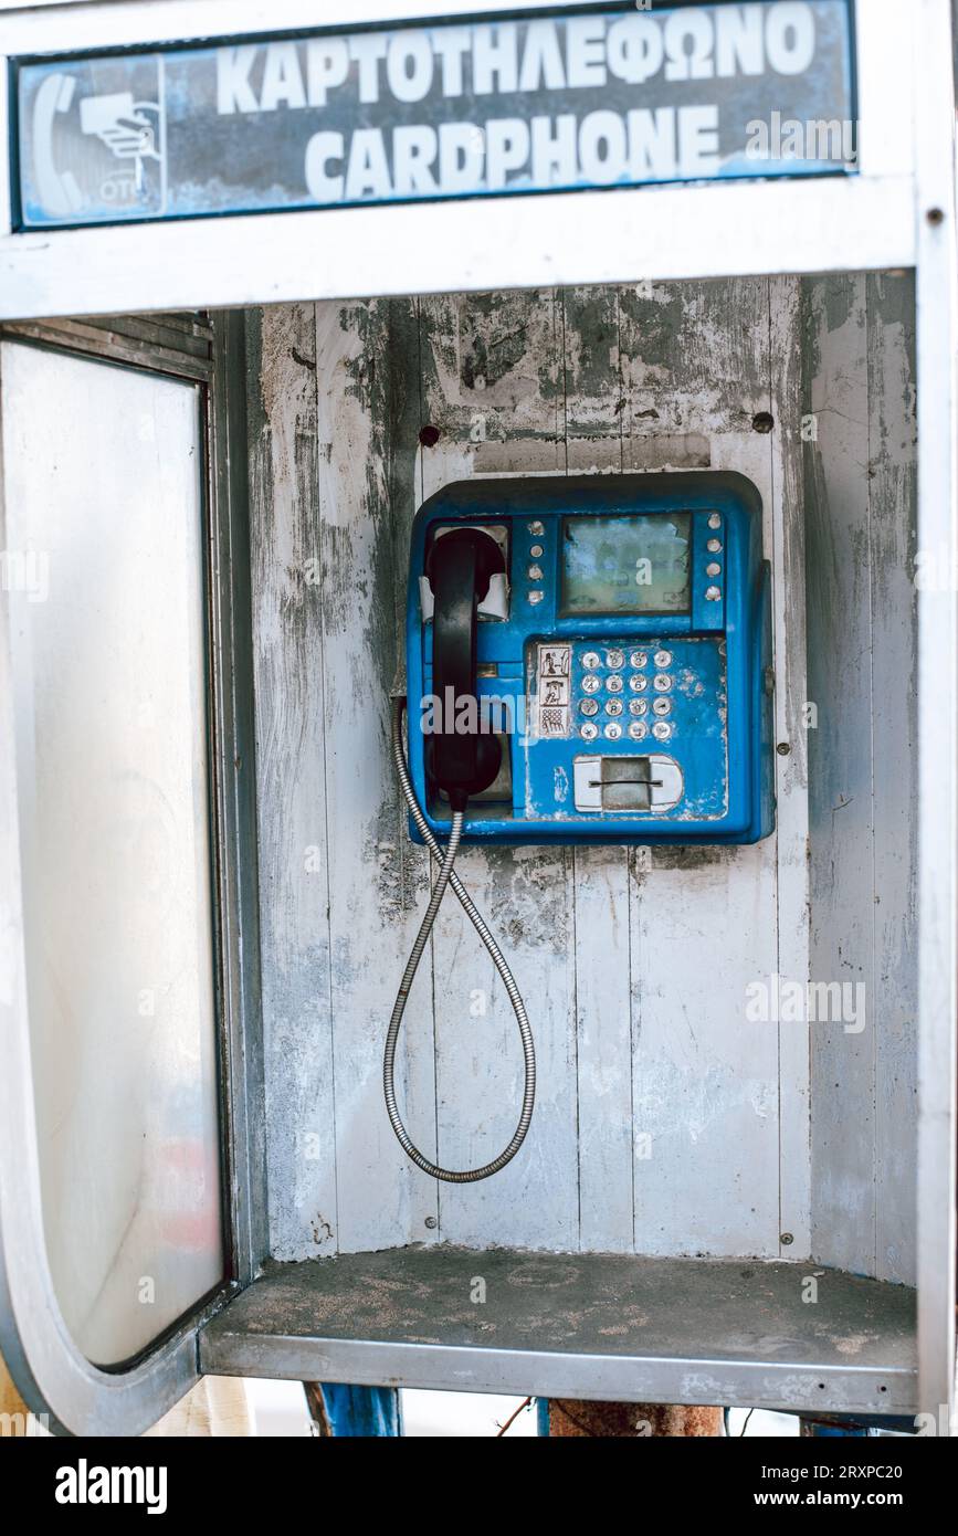
[[[329,934],[339,1247],[425,1241],[436,1189],[407,1161],[382,1103],[382,1046],[427,891],[390,756],[419,410],[410,303],[316,306],[318,524],[329,805]],[[398,553],[401,551],[401,553]],[[407,1005],[399,1103],[434,1152],[428,957]]]

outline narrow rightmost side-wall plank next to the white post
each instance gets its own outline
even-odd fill
[[[866,280],[875,756],[875,1275],[915,1284],[918,604],[915,286]]]

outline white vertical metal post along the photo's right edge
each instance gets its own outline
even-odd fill
[[[958,974],[958,243],[950,8],[915,18],[918,550],[947,579],[918,602],[918,1376],[952,1422],[955,1392],[955,1020]]]

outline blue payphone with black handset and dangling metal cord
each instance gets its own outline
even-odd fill
[[[522,1144],[534,1052],[522,998],[453,863],[471,843],[754,843],[774,825],[769,567],[740,475],[490,479],[447,485],[415,521],[407,751],[411,836],[439,863],[387,1037],[385,1098],[413,1161],[485,1178]],[[405,995],[451,885],[507,986],[525,1054],[504,1154],[454,1174],[396,1109]]]

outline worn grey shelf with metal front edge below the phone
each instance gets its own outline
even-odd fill
[[[915,1293],[812,1263],[391,1249],[270,1266],[206,1326],[200,1369],[910,1415]]]

